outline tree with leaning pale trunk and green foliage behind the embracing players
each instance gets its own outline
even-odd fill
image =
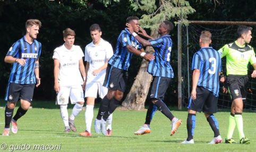
[[[190,6],[189,2],[184,0],[136,0],[135,2],[130,0],[134,10],[142,10],[147,12],[143,14],[140,20],[143,28],[149,28],[152,30],[151,37],[157,38],[157,28],[159,23],[164,20],[180,21],[181,24],[187,23],[187,15],[194,13],[195,10]],[[177,24],[177,22],[175,22]],[[152,47],[146,48],[147,52],[152,52]],[[133,83],[133,86],[127,94],[124,102],[122,103],[123,108],[131,110],[142,110],[144,109],[144,102],[146,101],[147,94],[149,91],[152,76],[147,73],[148,62],[142,60],[139,73]]]

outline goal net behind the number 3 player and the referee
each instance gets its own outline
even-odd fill
[[[244,22],[243,22],[244,23]],[[252,22],[250,22],[252,23]],[[191,86],[192,86],[192,58],[196,51],[200,49],[199,37],[201,31],[208,30],[212,33],[211,47],[218,50],[227,43],[231,43],[237,39],[236,30],[239,24],[197,24],[190,23],[188,26],[182,28],[182,103],[183,107],[187,105]],[[246,24],[245,24],[246,25]],[[252,30],[252,39],[250,46],[256,47],[256,25],[250,25]],[[255,51],[255,49],[254,49]],[[226,58],[222,59],[222,69],[226,70]],[[249,111],[256,111],[256,78],[251,77],[253,67],[248,65],[249,83],[247,84],[247,98],[244,102],[244,109]],[[223,94],[223,83],[220,83],[220,94],[218,100],[218,109],[230,109],[231,99],[229,94]]]

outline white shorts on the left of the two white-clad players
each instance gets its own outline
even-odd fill
[[[71,104],[75,104],[76,102],[84,102],[82,86],[61,86],[59,92],[57,93],[56,104],[68,104],[69,97]]]

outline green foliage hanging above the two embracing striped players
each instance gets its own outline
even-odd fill
[[[156,1],[149,0],[130,0],[134,10],[145,11],[140,20],[143,28],[157,29],[160,22],[164,20],[180,21],[181,24],[187,24],[187,15],[192,14],[195,10],[190,6],[188,1],[184,0],[161,0],[159,4]]]

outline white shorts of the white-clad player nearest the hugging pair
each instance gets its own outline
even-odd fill
[[[86,84],[86,95],[85,97],[95,97],[97,98],[97,93],[101,99],[107,94],[108,88],[103,86],[100,82],[91,82]]]

